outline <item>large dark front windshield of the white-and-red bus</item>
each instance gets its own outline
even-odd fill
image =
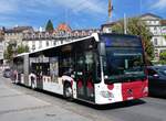
[[[141,48],[106,47],[104,74],[108,82],[144,78],[143,51]]]

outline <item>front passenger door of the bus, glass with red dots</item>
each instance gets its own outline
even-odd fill
[[[77,98],[94,101],[94,69],[93,53],[87,52],[76,56],[76,88]]]

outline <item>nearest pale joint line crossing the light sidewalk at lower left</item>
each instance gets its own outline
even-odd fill
[[[44,109],[44,108],[49,108],[49,107],[52,107],[52,106],[51,105],[46,105],[46,106],[39,106],[39,107],[31,107],[31,108],[0,111],[0,116],[7,114],[7,113],[13,113],[13,112],[22,112],[22,111],[31,111],[31,110]]]

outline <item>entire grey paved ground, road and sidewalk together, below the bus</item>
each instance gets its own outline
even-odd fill
[[[17,86],[0,77],[0,121],[166,121],[166,99],[95,107]]]

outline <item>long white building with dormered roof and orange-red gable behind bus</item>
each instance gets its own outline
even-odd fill
[[[72,42],[75,38],[89,36],[92,33],[97,32],[100,30],[74,30],[65,24],[61,23],[53,31],[53,33],[49,32],[29,32],[23,33],[23,44],[29,46],[30,52],[35,52],[39,50],[43,50],[50,46],[55,46],[60,44],[64,44],[68,42]]]

